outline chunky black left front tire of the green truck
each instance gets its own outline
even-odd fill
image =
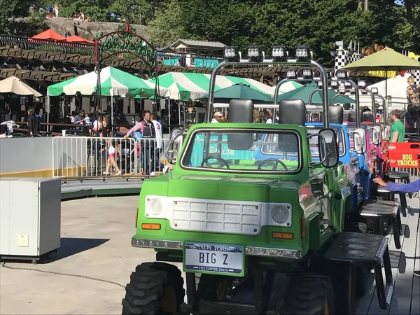
[[[165,262],[145,262],[136,267],[125,286],[122,314],[176,314],[184,296],[183,278],[177,267]],[[165,298],[169,298],[169,303],[162,303]]]

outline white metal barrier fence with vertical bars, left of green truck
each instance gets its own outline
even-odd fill
[[[52,174],[61,178],[158,176],[167,170],[168,139],[55,137]]]

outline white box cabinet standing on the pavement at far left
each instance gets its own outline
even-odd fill
[[[61,180],[0,178],[0,258],[38,259],[60,246]]]

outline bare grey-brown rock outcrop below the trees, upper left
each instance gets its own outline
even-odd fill
[[[78,36],[93,40],[94,36],[102,31],[104,34],[111,31],[118,31],[118,26],[123,23],[113,22],[82,22],[73,20],[71,18],[52,18],[45,21],[46,25],[57,31],[57,33],[64,36],[68,31],[71,35],[75,34],[77,30]],[[146,33],[147,27],[144,25],[132,25],[132,28],[136,30],[136,34],[148,39],[150,36]]]

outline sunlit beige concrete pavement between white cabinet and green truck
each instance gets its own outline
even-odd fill
[[[0,314],[121,314],[131,272],[139,263],[155,260],[155,251],[131,246],[138,199],[62,202],[58,251],[38,265],[6,262],[6,267],[25,270],[0,267]]]

